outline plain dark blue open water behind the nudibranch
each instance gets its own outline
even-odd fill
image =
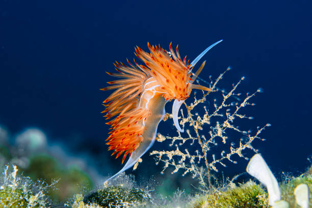
[[[39,127],[73,151],[92,153],[103,175],[103,161],[117,171],[120,160],[106,153],[108,126],[100,114],[109,92],[99,88],[114,79],[105,71],[134,58],[136,45],[147,49],[148,41],[167,49],[179,44],[192,60],[223,39],[205,56],[201,77],[231,65],[227,80],[245,76],[242,92],[262,87],[247,113],[255,126],[272,126],[256,148],[273,172],[303,171],[312,154],[311,7],[310,1],[1,0],[0,124],[13,133]],[[151,157],[144,162],[153,166]],[[233,167],[243,172],[245,165]]]

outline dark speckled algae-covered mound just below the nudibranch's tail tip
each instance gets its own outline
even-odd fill
[[[83,199],[85,204],[98,204],[101,207],[120,206],[128,207],[135,204],[144,204],[149,197],[141,189],[123,188],[122,186],[107,187],[94,192]]]

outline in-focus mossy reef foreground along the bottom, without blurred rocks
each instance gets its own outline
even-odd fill
[[[110,182],[102,185],[91,193],[77,193],[64,204],[54,204],[48,197],[51,186],[41,180],[33,181],[29,177],[17,174],[18,168],[6,166],[0,178],[0,207],[71,207],[71,208],[103,208],[103,207],[185,207],[185,208],[247,208],[271,207],[265,187],[247,180],[244,183],[233,183],[231,180],[215,181],[210,190],[198,191],[192,195],[177,190],[170,198],[153,195],[151,187],[138,188],[134,178],[121,174]],[[57,182],[56,182],[57,183]],[[305,205],[299,206],[296,187],[305,184],[308,195]],[[312,166],[300,176],[286,176],[279,183],[281,201],[288,206],[272,207],[303,207],[312,205]],[[58,190],[62,192],[62,189]],[[296,195],[296,197],[295,197]]]

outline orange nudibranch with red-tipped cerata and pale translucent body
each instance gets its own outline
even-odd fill
[[[178,111],[192,89],[211,91],[210,88],[193,84],[198,74],[204,67],[205,61],[193,73],[196,63],[212,47],[222,40],[207,47],[193,62],[181,60],[176,46],[176,52],[161,46],[151,46],[147,43],[150,53],[140,47],[135,48],[135,55],[144,62],[144,65],[128,62],[114,63],[118,73],[107,72],[120,80],[108,82],[112,86],[101,90],[115,91],[103,101],[106,107],[106,119],[112,119],[107,124],[111,125],[110,136],[107,139],[109,150],[114,150],[118,158],[123,154],[122,163],[126,155],[130,155],[124,167],[111,178],[134,166],[142,155],[153,145],[157,135],[157,127],[165,115],[167,101],[174,99],[172,107],[173,122],[177,130],[184,132],[178,123]],[[112,155],[113,155],[112,154]],[[110,179],[111,179],[110,178]]]

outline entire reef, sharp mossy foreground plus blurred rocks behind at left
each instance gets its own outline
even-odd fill
[[[60,158],[50,151],[39,129],[27,129],[14,142],[9,138],[8,131],[1,127],[0,207],[271,207],[269,188],[254,178],[238,180],[239,175],[220,180],[213,175],[209,186],[205,170],[201,169],[197,170],[197,185],[193,183],[196,191],[176,190],[173,195],[164,196],[155,190],[166,189],[165,184],[144,184],[124,173],[103,184],[104,180],[94,177],[87,166],[72,162],[78,159]],[[186,176],[180,177],[183,181]],[[281,178],[279,199],[288,204],[280,207],[299,207],[299,192],[305,193],[308,200],[301,207],[308,207],[304,203],[312,205],[312,166],[300,175],[282,174],[277,178]],[[305,192],[298,191],[302,185],[307,187]]]

